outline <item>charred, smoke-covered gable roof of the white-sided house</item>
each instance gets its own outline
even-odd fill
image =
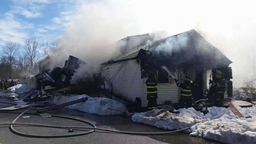
[[[147,41],[133,48],[126,47],[126,52],[110,59],[107,63],[116,63],[123,60],[137,59],[148,55],[154,61],[170,61],[173,65],[184,63],[204,65],[213,68],[218,65],[229,65],[229,60],[218,48],[206,41],[194,29],[174,36]]]

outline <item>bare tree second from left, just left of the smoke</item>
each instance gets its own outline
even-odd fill
[[[33,67],[33,65],[37,62],[39,58],[39,51],[38,51],[38,41],[36,38],[28,38],[25,40],[25,54],[28,57],[30,66]]]

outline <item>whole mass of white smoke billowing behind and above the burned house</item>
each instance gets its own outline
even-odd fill
[[[256,75],[256,17],[254,1],[103,0],[82,2],[60,46],[50,51],[49,68],[62,66],[68,55],[92,67],[107,61],[115,42],[127,36],[166,30],[170,35],[195,29],[224,51],[234,63],[234,86]]]

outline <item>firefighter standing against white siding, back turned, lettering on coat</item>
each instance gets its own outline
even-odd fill
[[[151,73],[149,75],[149,79],[146,80],[146,86],[147,86],[147,100],[148,100],[148,109],[152,110],[156,108],[158,98],[157,96],[157,80],[154,73]]]

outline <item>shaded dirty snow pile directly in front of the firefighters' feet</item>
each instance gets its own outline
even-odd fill
[[[203,113],[194,110],[194,108],[181,108],[178,109],[180,113],[170,113],[166,111],[158,116],[154,117],[160,110],[154,109],[148,112],[135,113],[132,116],[132,121],[138,123],[149,124],[163,129],[182,129],[185,127],[192,126],[204,119],[210,119],[218,116],[224,112],[224,108],[212,107],[209,108],[209,113],[204,115]]]

